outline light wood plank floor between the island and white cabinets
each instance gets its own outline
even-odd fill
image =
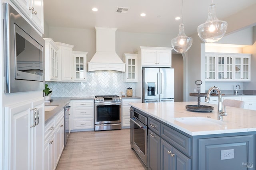
[[[130,149],[130,129],[72,132],[57,170],[146,170]]]

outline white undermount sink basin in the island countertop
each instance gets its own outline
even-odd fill
[[[223,125],[222,121],[214,120],[207,117],[178,117],[174,120],[190,125],[190,126],[209,126],[209,125]]]

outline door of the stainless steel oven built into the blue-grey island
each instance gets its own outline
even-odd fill
[[[130,118],[130,120],[133,135],[132,147],[144,164],[148,166],[148,127],[135,117]]]

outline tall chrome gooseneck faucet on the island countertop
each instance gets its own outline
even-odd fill
[[[209,103],[210,101],[210,94],[212,90],[216,90],[218,92],[218,96],[219,96],[219,103],[218,103],[218,120],[223,121],[223,116],[226,116],[226,106],[224,106],[224,111],[222,111],[222,102],[221,102],[221,92],[220,89],[218,87],[211,87],[208,92],[207,95],[205,97],[205,102]]]

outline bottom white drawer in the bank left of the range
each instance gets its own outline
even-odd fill
[[[73,119],[73,130],[94,128],[94,119]]]

